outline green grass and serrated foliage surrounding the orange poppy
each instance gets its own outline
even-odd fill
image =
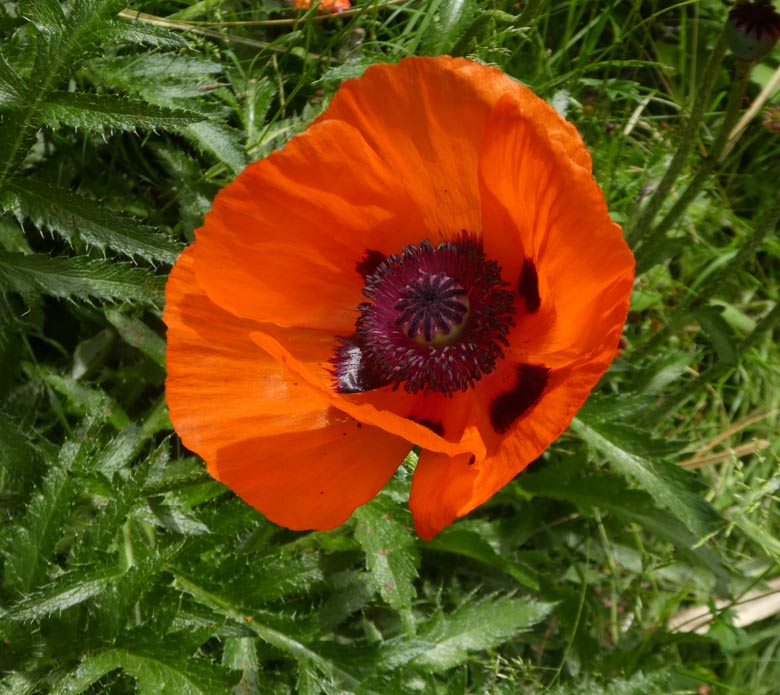
[[[780,576],[780,136],[725,138],[733,57],[703,89],[727,7],[66,5],[0,6],[0,693],[778,691],[780,619],[734,621]],[[165,276],[343,79],[440,53],[580,130],[642,270],[624,349],[570,431],[434,541],[406,468],[343,527],[293,533],[172,432]],[[716,599],[704,634],[669,629]]]

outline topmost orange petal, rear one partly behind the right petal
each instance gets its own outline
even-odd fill
[[[462,58],[373,65],[341,86],[319,120],[346,121],[363,134],[417,201],[436,241],[462,229],[480,233],[480,145],[493,106],[507,94],[529,117],[549,122],[550,137],[590,167],[576,129],[549,104],[497,68]]]

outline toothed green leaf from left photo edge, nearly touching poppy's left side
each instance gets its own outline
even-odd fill
[[[165,279],[124,263],[0,252],[0,289],[161,305]]]

